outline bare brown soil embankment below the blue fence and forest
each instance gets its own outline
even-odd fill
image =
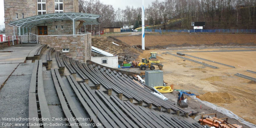
[[[141,36],[118,36],[116,38],[129,45],[141,44]],[[226,44],[227,46],[255,46],[256,36],[255,34],[180,34],[147,35],[145,37],[145,46],[154,46],[153,48],[162,48],[169,45],[179,45],[179,47],[214,46],[214,43],[216,45]]]

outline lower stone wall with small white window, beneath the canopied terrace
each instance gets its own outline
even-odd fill
[[[73,60],[86,62],[91,58],[91,34],[38,36],[40,44],[47,44],[55,51],[60,51]],[[69,52],[62,52],[62,48],[69,48]]]

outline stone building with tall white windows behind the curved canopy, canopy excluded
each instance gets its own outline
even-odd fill
[[[78,0],[5,0],[5,33],[6,36],[13,35],[13,27],[8,25],[11,21],[51,13],[78,12]],[[80,21],[76,21],[76,31],[79,29]],[[73,21],[62,20],[35,24],[28,32],[36,35],[71,35],[73,34]],[[81,25],[80,25],[81,27]],[[19,35],[18,28],[15,35]],[[26,28],[21,28],[21,35],[27,33]]]

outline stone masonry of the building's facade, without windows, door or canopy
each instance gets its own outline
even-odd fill
[[[4,0],[5,7],[5,34],[6,36],[13,36],[13,27],[8,25],[9,22],[24,18],[35,16],[37,12],[37,0]],[[54,0],[46,0],[46,14],[55,12]],[[63,12],[78,12],[78,0],[63,0]],[[18,19],[16,19],[16,13]],[[79,23],[76,23],[79,24]],[[58,29],[55,29],[55,26]],[[63,25],[63,30],[61,26]],[[48,35],[70,35],[73,34],[73,22],[70,20],[48,22],[35,25],[31,28],[31,33],[38,35],[38,26],[48,26]],[[29,30],[29,29],[28,29]],[[22,32],[22,30],[21,30]],[[15,27],[15,35],[18,34],[18,29]]]

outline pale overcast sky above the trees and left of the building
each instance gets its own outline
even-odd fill
[[[134,8],[141,7],[141,0],[100,0],[104,4],[113,5],[113,8],[117,10],[118,8],[125,9],[125,6],[133,6]],[[155,0],[144,0],[144,7],[147,8],[148,5],[151,5],[151,2]],[[162,2],[164,0],[158,0]],[[0,26],[5,25],[4,22],[4,0],[0,0]]]

